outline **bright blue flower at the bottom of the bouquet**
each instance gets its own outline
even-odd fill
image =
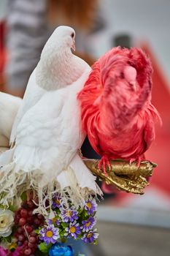
[[[51,246],[48,253],[50,256],[73,256],[73,249],[71,246],[56,243]]]

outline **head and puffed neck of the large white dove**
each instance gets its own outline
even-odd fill
[[[36,83],[43,88],[56,89],[80,78],[88,64],[75,56],[75,31],[58,26],[47,40],[36,67]]]

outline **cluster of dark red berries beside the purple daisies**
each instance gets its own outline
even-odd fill
[[[34,256],[37,249],[37,235],[34,230],[44,224],[44,217],[33,214],[35,204],[30,200],[22,203],[18,211],[15,212],[15,238],[20,246],[20,256]]]

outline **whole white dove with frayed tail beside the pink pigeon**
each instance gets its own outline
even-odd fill
[[[0,157],[0,193],[6,192],[1,203],[33,187],[39,195],[37,211],[47,214],[43,199],[54,192],[63,192],[77,206],[91,192],[101,195],[96,177],[77,153],[85,138],[77,94],[91,69],[72,54],[74,37],[70,27],[55,29],[28,81],[13,128],[14,146]]]

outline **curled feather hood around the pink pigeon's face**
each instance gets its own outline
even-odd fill
[[[135,89],[125,78],[125,67],[136,69]],[[112,125],[112,129],[120,129],[144,108],[145,103],[150,102],[152,66],[142,50],[113,48],[98,59],[92,69],[84,89],[78,95],[85,131],[91,122],[98,120],[99,112],[100,118],[114,118],[114,124],[108,124],[104,119],[101,123],[107,127],[102,129],[108,130]]]

